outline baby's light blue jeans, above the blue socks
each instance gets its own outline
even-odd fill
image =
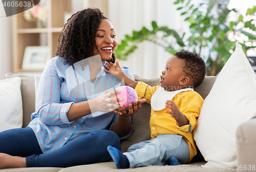
[[[182,164],[189,161],[189,148],[183,136],[175,134],[158,135],[152,140],[133,144],[123,153],[130,162],[130,168],[164,165],[170,157]]]

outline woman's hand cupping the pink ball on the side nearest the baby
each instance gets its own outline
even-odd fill
[[[128,110],[126,110],[123,105],[120,105],[122,110],[118,111],[118,113],[116,113],[116,112],[114,112],[114,113],[116,113],[118,115],[121,115],[121,116],[131,116],[133,114],[136,114],[140,110],[141,103],[144,103],[145,101],[146,101],[145,98],[142,98],[142,99],[137,100],[137,101],[134,100],[133,104],[132,103],[129,104]],[[117,111],[117,110],[115,110],[115,111]]]

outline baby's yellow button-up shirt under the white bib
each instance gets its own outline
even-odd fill
[[[138,82],[135,91],[138,94],[138,98],[146,98],[147,103],[150,104],[153,94],[157,91],[160,85],[151,87],[144,82]],[[179,126],[176,120],[164,111],[169,111],[166,107],[161,111],[154,111],[151,108],[150,117],[150,131],[151,138],[156,138],[161,134],[177,134],[183,136],[189,147],[189,162],[197,154],[196,145],[193,139],[193,130],[197,125],[197,118],[200,115],[201,107],[204,99],[195,91],[180,92],[172,99],[179,110],[187,120],[189,124]]]

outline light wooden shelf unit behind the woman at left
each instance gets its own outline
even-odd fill
[[[37,28],[37,22],[28,22],[24,18],[24,12],[12,17],[13,24],[13,73],[18,72],[42,72],[42,70],[22,69],[23,56],[27,46],[40,45],[42,37],[47,40],[50,48],[50,56],[53,57],[58,45],[58,35],[64,27],[63,15],[70,13],[71,0],[46,0],[48,8],[47,28]]]

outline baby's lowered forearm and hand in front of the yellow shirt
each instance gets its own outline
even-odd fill
[[[180,112],[178,106],[175,104],[173,100],[167,100],[165,102],[165,107],[169,108],[170,111],[164,111],[164,112],[170,114],[170,116],[176,120],[179,126],[189,124],[189,121],[187,120],[185,115],[183,115]]]

